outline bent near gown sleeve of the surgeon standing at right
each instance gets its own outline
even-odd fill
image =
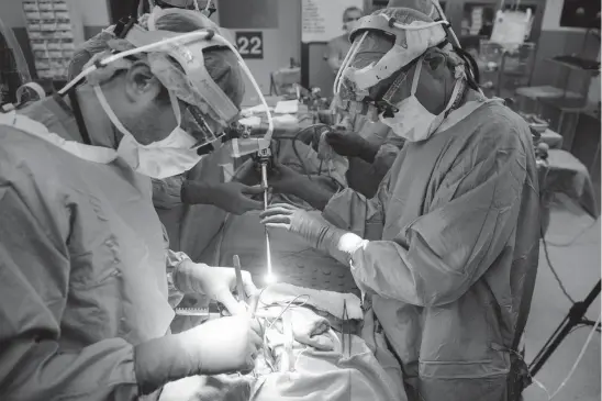
[[[444,175],[427,213],[391,241],[370,241],[353,253],[358,283],[383,298],[441,305],[461,297],[504,255],[521,211],[527,156],[519,132],[495,127]]]

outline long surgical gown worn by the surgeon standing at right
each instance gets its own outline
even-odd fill
[[[488,101],[406,143],[374,199],[347,189],[325,208],[369,240],[352,272],[410,400],[504,400],[523,282],[538,259],[537,188],[528,127]]]

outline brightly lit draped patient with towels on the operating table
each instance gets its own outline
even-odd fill
[[[265,347],[250,375],[180,380],[161,401],[406,400],[399,369],[379,364],[359,337],[356,296],[276,283],[261,291],[256,315]]]

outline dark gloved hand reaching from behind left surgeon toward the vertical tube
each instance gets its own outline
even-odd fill
[[[182,201],[189,204],[213,204],[228,213],[244,214],[264,208],[263,202],[250,199],[250,196],[261,192],[261,187],[234,181],[218,185],[186,181],[182,185]]]

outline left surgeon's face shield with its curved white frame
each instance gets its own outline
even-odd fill
[[[155,30],[154,21],[157,19],[157,14],[170,12],[169,10],[156,10],[157,12],[154,11],[148,20],[148,31],[134,25],[125,35],[125,40],[135,48],[113,54],[88,66],[67,83],[59,94],[66,93],[81,79],[99,68],[111,63],[123,64],[129,58],[144,53],[148,58],[153,74],[178,99],[175,101],[175,109],[178,109],[178,111],[175,110],[179,124],[177,129],[189,136],[189,140],[180,140],[178,143],[181,144],[180,147],[190,159],[191,149],[199,149],[218,142],[224,135],[225,129],[237,120],[239,113],[238,108],[209,75],[203,59],[205,49],[211,47],[230,48],[238,59],[241,69],[250,80],[264,107],[266,109],[268,107],[253,74],[231,42],[213,30],[199,30],[185,34]],[[269,112],[268,123],[269,127],[265,137],[254,140],[254,152],[269,146],[274,132],[274,122]],[[163,144],[164,141],[159,143]],[[172,152],[174,147],[170,151]]]

